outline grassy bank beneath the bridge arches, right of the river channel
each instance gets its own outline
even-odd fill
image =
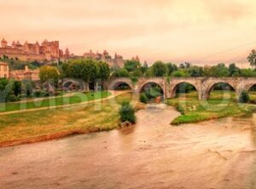
[[[253,99],[256,95],[250,95]],[[167,105],[175,106],[182,115],[176,117],[173,125],[196,123],[220,117],[243,115],[255,110],[252,104],[236,102],[235,92],[213,91],[209,100],[198,100],[197,93],[179,94],[175,99],[167,100]]]

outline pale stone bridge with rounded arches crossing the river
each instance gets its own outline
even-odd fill
[[[253,77],[140,77],[136,83],[130,78],[116,77],[108,82],[108,89],[115,89],[120,83],[128,84],[135,93],[140,93],[147,83],[157,83],[164,92],[165,98],[173,98],[176,95],[177,86],[180,83],[189,83],[195,87],[200,100],[206,100],[213,87],[218,83],[227,83],[236,91],[236,98],[241,91],[248,91],[256,84]]]

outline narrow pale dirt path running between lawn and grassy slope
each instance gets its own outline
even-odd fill
[[[97,100],[89,100],[89,101],[84,101],[81,103],[75,103],[75,104],[69,104],[69,105],[60,105],[60,106],[46,106],[46,107],[38,107],[38,108],[32,108],[32,109],[26,109],[26,110],[19,110],[19,111],[10,111],[10,112],[0,112],[0,116],[3,115],[9,115],[9,114],[14,114],[14,113],[23,113],[23,112],[35,112],[35,111],[40,111],[40,110],[50,110],[50,109],[55,109],[55,108],[61,108],[61,107],[69,107],[69,106],[78,106],[78,105],[87,105],[89,103],[94,103],[102,100],[108,100],[108,99],[113,99],[114,97],[119,96],[120,94],[125,94],[128,91],[114,91],[114,90],[108,90],[111,94],[102,99],[97,99]],[[38,101],[38,100],[36,100]]]

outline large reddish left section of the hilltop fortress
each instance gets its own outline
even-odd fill
[[[70,56],[69,50],[65,53],[59,48],[59,42],[48,42],[44,40],[43,43],[27,43],[20,44],[19,41],[13,42],[10,46],[3,38],[1,41],[0,57],[9,57],[9,59],[18,59],[23,61],[55,61],[67,60]]]

